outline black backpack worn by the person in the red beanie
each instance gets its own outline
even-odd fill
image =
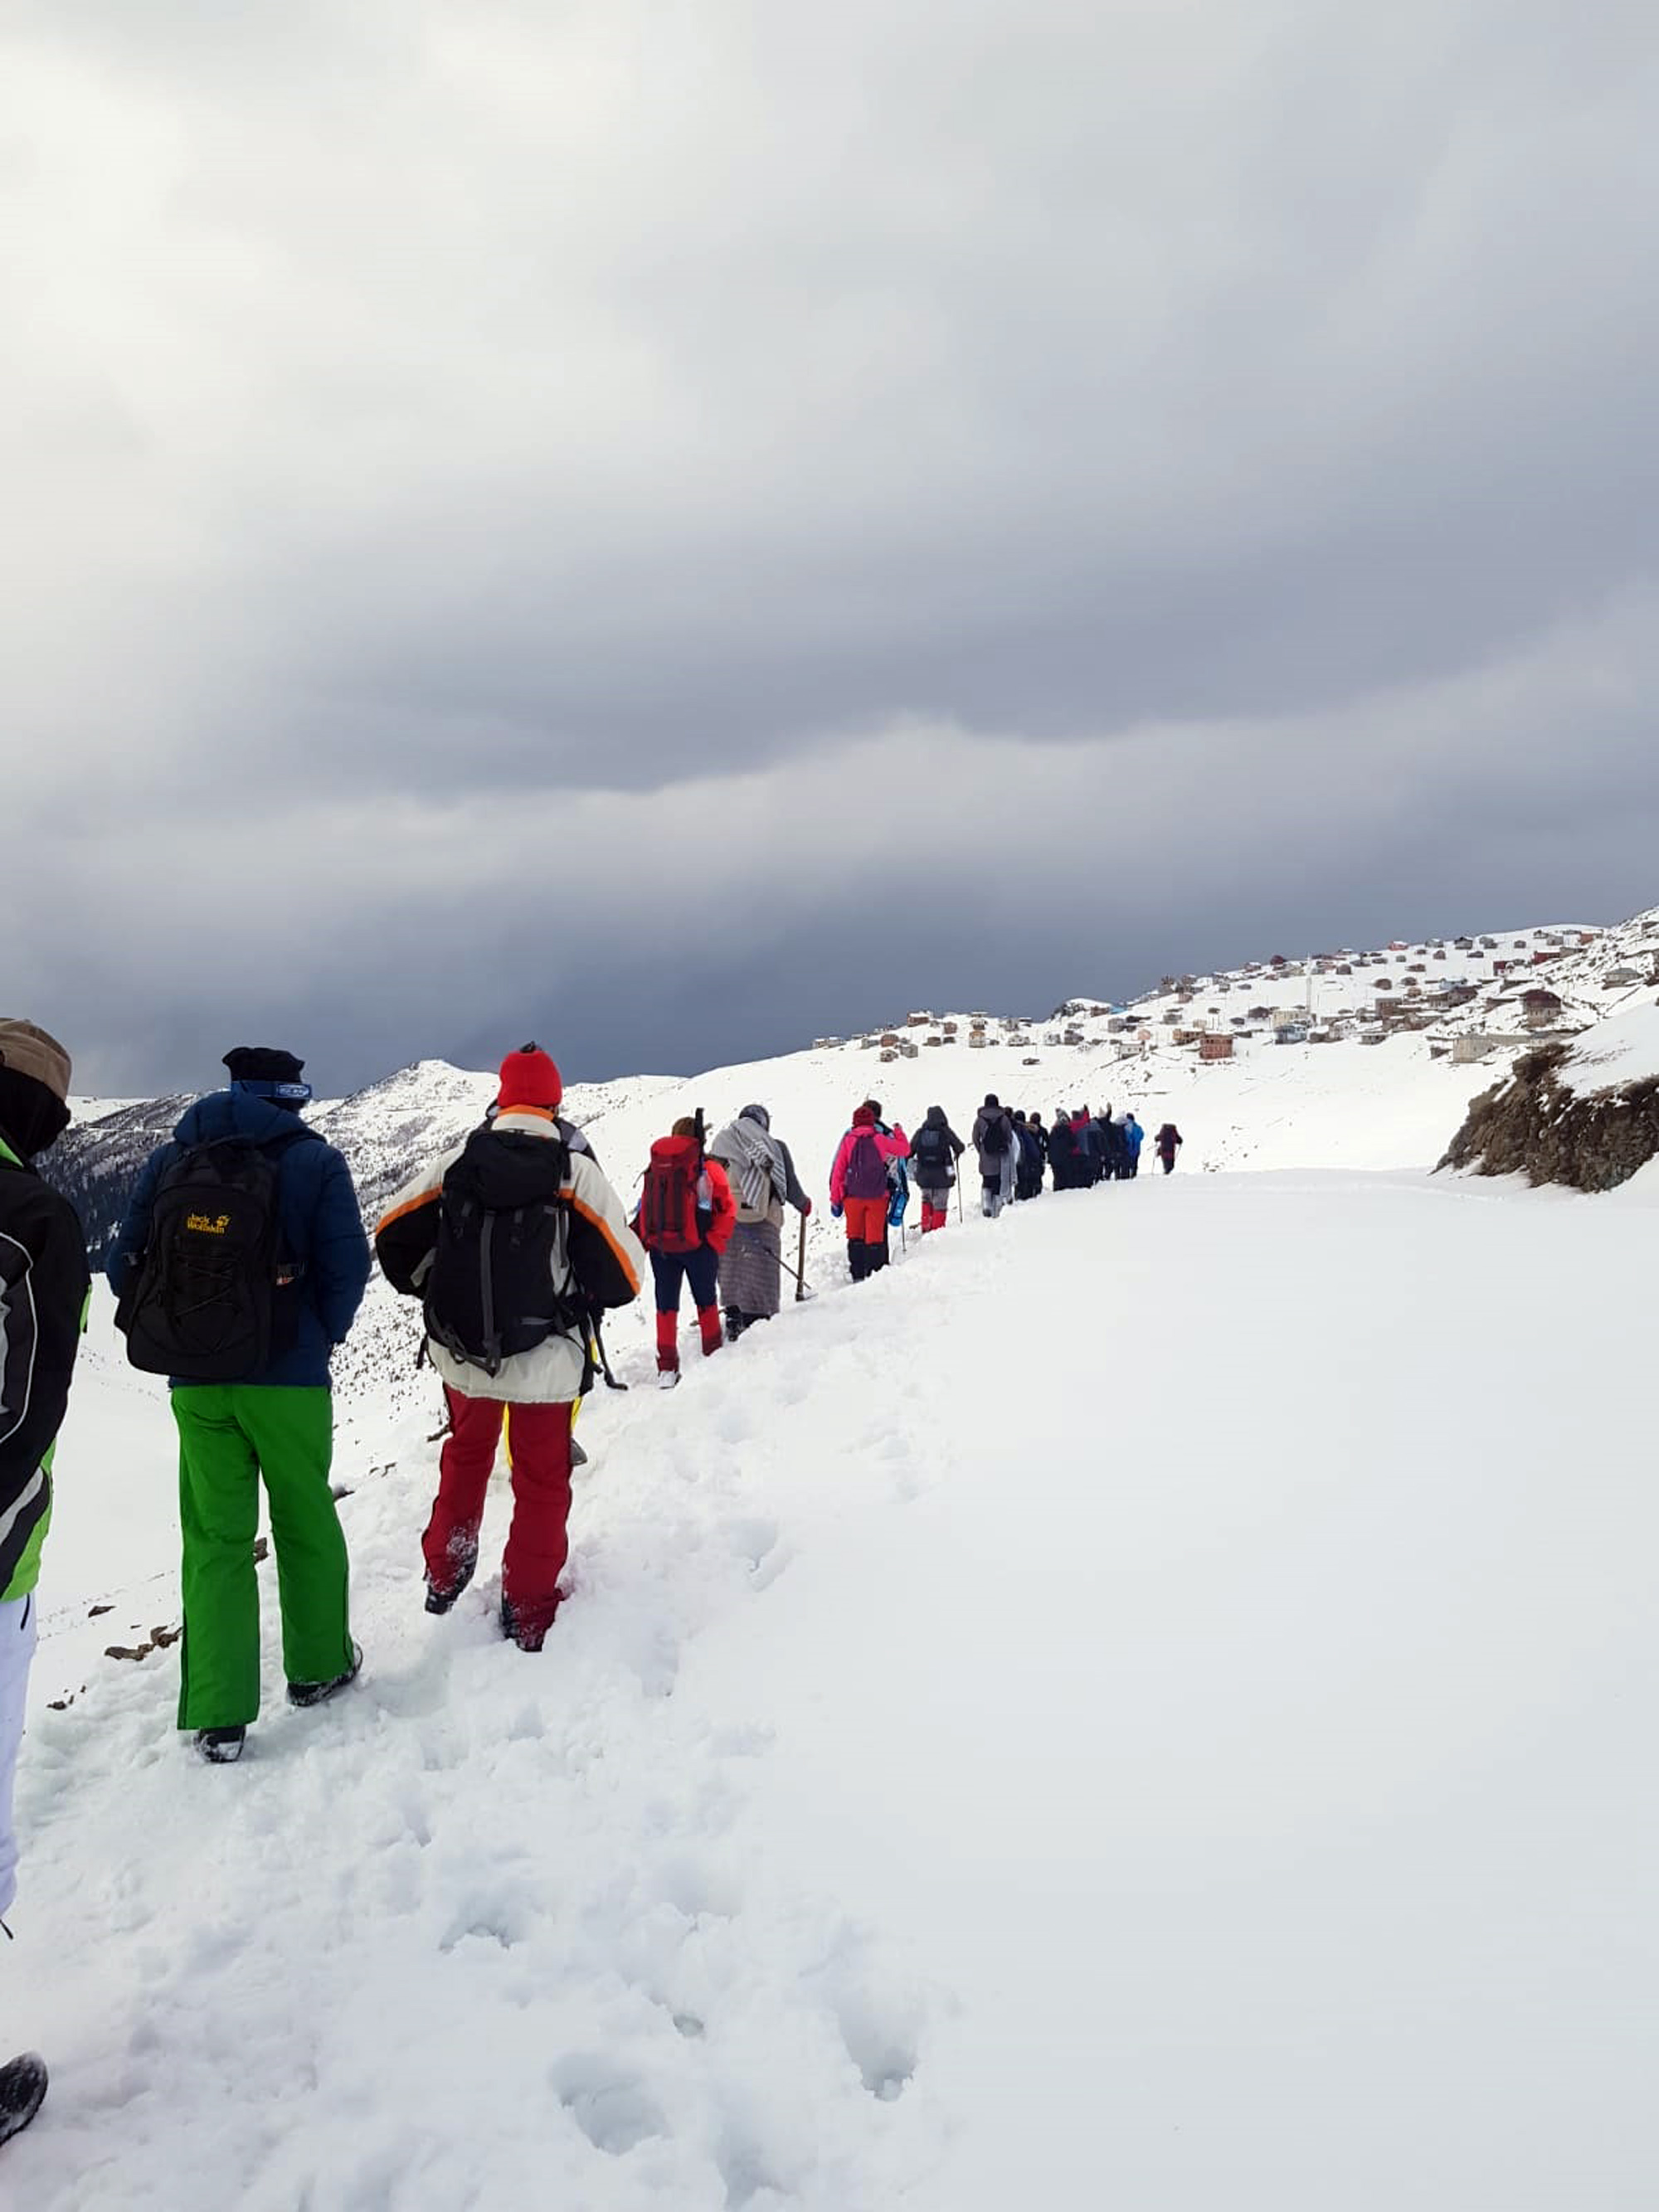
[[[562,1197],[568,1172],[562,1139],[480,1128],[442,1179],[427,1336],[487,1376],[549,1336],[575,1336],[586,1352]]]

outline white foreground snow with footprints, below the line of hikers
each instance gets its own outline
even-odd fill
[[[584,1416],[540,1657],[489,1579],[420,1610],[403,1418],[349,1694],[290,1712],[268,1635],[230,1772],[173,1652],[40,1714],[0,1993],[53,2095],[0,2183],[1650,2203],[1652,1225],[1340,1175],[951,1225]]]

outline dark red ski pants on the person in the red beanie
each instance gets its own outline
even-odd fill
[[[449,1440],[438,1462],[438,1495],[420,1540],[434,1590],[467,1582],[478,1559],[484,1491],[502,1436],[500,1398],[467,1398],[445,1387]],[[520,1639],[542,1637],[560,1610],[560,1573],[571,1555],[571,1407],[515,1405],[513,1524],[502,1553],[502,1599]]]

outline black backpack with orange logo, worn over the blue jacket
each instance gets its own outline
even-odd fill
[[[281,1252],[276,1161],[307,1139],[314,1128],[263,1146],[221,1137],[164,1170],[150,1239],[115,1307],[133,1367],[179,1383],[252,1383],[265,1371],[281,1349],[276,1292],[299,1279]]]

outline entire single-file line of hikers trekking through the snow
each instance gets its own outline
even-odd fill
[[[301,1119],[303,1060],[226,1053],[228,1084],[197,1099],[137,1177],[106,1274],[128,1360],[170,1380],[179,1433],[184,1635],[177,1725],[215,1765],[241,1756],[259,1717],[259,1486],[270,1500],[288,1701],[314,1708],[356,1681],[349,1562],[330,1484],[330,1358],[372,1272],[352,1170]],[[0,1916],[15,1896],[11,1798],[35,1648],[33,1593],[51,1524],[55,1438],[86,1327],[91,1274],[73,1206],[33,1168],[69,1126],[71,1060],[44,1029],[0,1020]],[[785,1208],[812,1199],[763,1106],[712,1139],[701,1115],[650,1148],[633,1214],[593,1146],[560,1115],[553,1060],[524,1044],[500,1064],[484,1124],[392,1199],[374,1256],[422,1307],[422,1358],[442,1383],[447,1431],[422,1533],[425,1604],[447,1613],[478,1566],[484,1493],[507,1440],[513,1513],[500,1626],[535,1652],[562,1604],[580,1400],[611,1376],[604,1314],[639,1296],[650,1259],[659,1383],[679,1378],[679,1298],[690,1285],[703,1354],[781,1305]],[[1113,1137],[1113,1130],[1119,1135]],[[1139,1157],[1133,1115],[1009,1113],[973,1121],[982,1210],[1104,1179]],[[1157,1148],[1175,1166],[1179,1130]],[[922,1192],[922,1230],[947,1219],[964,1144],[942,1108],[916,1139],[867,1099],[836,1148],[832,1212],[854,1279],[887,1263],[889,1228]],[[1095,1161],[1093,1172],[1084,1164]],[[805,1290],[799,1270],[799,1294]],[[33,2117],[46,2070],[0,2066],[0,2141]]]

